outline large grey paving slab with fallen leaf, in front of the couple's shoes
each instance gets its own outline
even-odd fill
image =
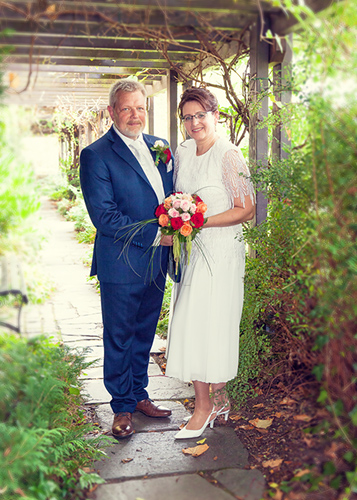
[[[206,429],[201,438],[175,440],[177,431],[140,432],[106,450],[108,457],[94,467],[104,479],[142,478],[177,473],[244,468],[248,452],[230,427]],[[185,455],[183,448],[206,439],[209,449],[199,457]],[[130,462],[123,463],[132,459]]]

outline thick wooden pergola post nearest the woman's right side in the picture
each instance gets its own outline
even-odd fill
[[[268,26],[264,26],[264,33]],[[257,125],[268,116],[268,97],[263,99],[260,92],[269,85],[269,44],[260,40],[261,21],[257,18],[250,32],[250,95],[252,105],[258,110],[252,113],[249,121],[249,160],[258,168],[268,163],[268,128],[257,128]],[[257,191],[255,224],[260,224],[267,215],[268,200],[265,193]]]

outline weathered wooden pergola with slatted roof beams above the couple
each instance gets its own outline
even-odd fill
[[[334,0],[307,0],[314,12]],[[0,47],[5,56],[5,103],[53,109],[59,100],[81,109],[91,105],[103,112],[108,89],[118,78],[137,76],[153,98],[167,92],[167,137],[175,150],[178,141],[176,108],[180,75],[201,57],[204,36],[224,58],[245,44],[250,57],[252,99],[268,81],[284,78],[291,62],[291,43],[268,43],[268,30],[290,36],[296,19],[263,0],[11,0],[0,1]],[[165,57],[165,55],[167,57]],[[209,66],[209,58],[204,65]],[[283,100],[289,100],[288,92]],[[154,106],[149,113],[153,130]],[[250,119],[250,161],[264,165],[268,132],[257,128],[268,115],[268,99]],[[275,131],[273,153],[282,158],[284,131]],[[267,200],[258,193],[256,222],[265,219]]]

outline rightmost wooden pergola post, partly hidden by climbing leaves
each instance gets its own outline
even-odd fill
[[[281,103],[281,106],[291,102],[291,90],[288,88],[282,90],[284,86],[289,87],[291,80],[291,62],[292,62],[292,34],[286,40],[282,40],[282,49],[276,47],[276,43],[271,48],[270,62],[274,64],[273,67],[273,81],[275,91],[275,101]],[[273,105],[273,112],[279,111],[278,104]],[[279,123],[273,130],[272,142],[272,157],[275,160],[284,160],[288,157],[286,146],[290,146],[291,140],[289,137],[289,130],[282,127]]]

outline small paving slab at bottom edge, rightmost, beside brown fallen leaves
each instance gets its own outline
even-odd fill
[[[265,479],[259,470],[225,469],[212,475],[239,500],[257,500],[263,496]]]

